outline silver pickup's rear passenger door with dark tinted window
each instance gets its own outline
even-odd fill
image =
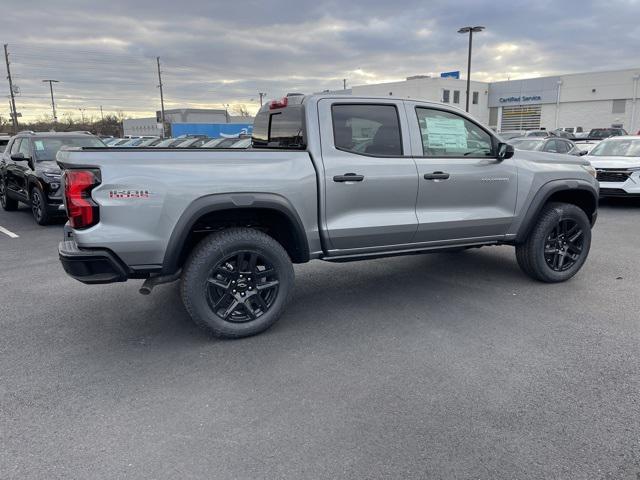
[[[418,177],[409,139],[398,131],[407,132],[402,101],[323,99],[318,114],[331,249],[410,243]]]

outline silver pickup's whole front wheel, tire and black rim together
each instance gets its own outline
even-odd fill
[[[516,245],[522,271],[546,283],[564,282],[584,265],[591,247],[591,223],[569,203],[546,205],[527,240]]]

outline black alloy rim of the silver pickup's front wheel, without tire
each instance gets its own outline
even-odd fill
[[[584,232],[572,219],[561,219],[549,232],[544,246],[544,259],[555,272],[570,269],[580,259]]]

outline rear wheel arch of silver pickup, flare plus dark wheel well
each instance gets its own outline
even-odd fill
[[[163,273],[175,273],[200,237],[231,226],[263,230],[285,248],[294,263],[309,261],[304,226],[286,198],[266,193],[213,194],[194,200],[180,216],[165,250]],[[198,231],[198,227],[205,230]]]

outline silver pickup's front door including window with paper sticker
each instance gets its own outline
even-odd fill
[[[513,158],[498,161],[492,135],[463,115],[409,107],[409,122],[420,132],[412,142],[419,177],[415,241],[505,235],[516,206]]]

